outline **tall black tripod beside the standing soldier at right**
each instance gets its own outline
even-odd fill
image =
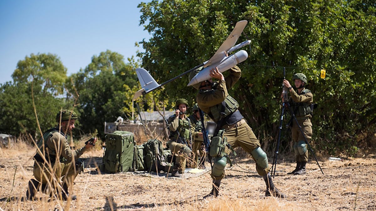
[[[284,69],[284,79],[285,79],[285,69]],[[307,141],[307,138],[306,138],[306,136],[305,136],[305,134],[304,134],[304,132],[302,130],[302,126],[299,125],[299,122],[296,119],[294,111],[291,109],[290,104],[288,103],[287,92],[288,92],[287,87],[285,87],[285,84],[282,83],[282,98],[283,98],[283,101],[282,101],[282,112],[281,112],[281,116],[280,116],[280,120],[279,120],[278,139],[277,139],[277,143],[276,143],[276,151],[274,152],[273,165],[271,167],[271,174],[273,175],[273,178],[274,178],[274,176],[276,174],[277,156],[279,154],[280,137],[281,137],[281,133],[282,133],[282,124],[283,124],[283,118],[284,118],[284,115],[285,115],[285,107],[287,107],[289,109],[291,118],[296,122],[297,126],[299,127],[300,133],[302,133],[306,145],[311,150],[312,155],[315,158],[316,163],[317,163],[318,167],[321,170],[321,173],[324,174],[323,170],[320,167],[320,164],[318,164],[316,155],[315,155],[313,149],[311,148],[311,145],[309,145],[309,143]],[[273,173],[273,170],[274,170],[274,173]]]

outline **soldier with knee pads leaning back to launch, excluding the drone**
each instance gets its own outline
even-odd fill
[[[200,69],[191,72],[190,80]],[[261,149],[259,140],[256,138],[244,117],[238,110],[239,104],[227,92],[240,78],[241,70],[235,66],[229,70],[230,74],[224,78],[218,68],[211,69],[210,76],[218,79],[213,83],[211,79],[194,84],[198,89],[197,104],[200,109],[209,115],[217,123],[217,129],[213,135],[210,145],[210,155],[214,157],[211,177],[213,187],[207,196],[218,196],[221,180],[224,178],[224,167],[226,167],[228,155],[225,151],[240,146],[247,153],[252,155],[256,161],[257,173],[262,176],[266,184],[265,196],[276,196],[284,198],[284,193],[279,191],[271,179],[268,158]],[[224,142],[224,143],[223,143]],[[215,143],[218,143],[215,145]],[[225,149],[226,148],[226,149]]]

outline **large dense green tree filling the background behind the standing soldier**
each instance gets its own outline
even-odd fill
[[[209,59],[237,21],[249,21],[249,59],[239,65],[242,78],[230,93],[261,140],[276,137],[284,67],[290,81],[296,72],[309,78],[319,104],[312,119],[318,149],[352,154],[359,134],[374,134],[374,2],[153,0],[139,8],[152,38],[141,42],[145,52],[138,55],[159,82]],[[194,99],[187,83],[182,77],[166,84],[162,98]]]

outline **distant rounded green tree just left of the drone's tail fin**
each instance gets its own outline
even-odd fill
[[[138,86],[134,62],[124,63],[121,54],[105,51],[93,56],[91,63],[67,81],[70,93],[78,93],[79,129],[85,133],[95,129],[103,135],[104,122],[114,122],[118,116],[129,118],[133,111],[130,92]],[[74,90],[75,89],[75,90]]]

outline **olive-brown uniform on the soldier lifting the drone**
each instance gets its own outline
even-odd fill
[[[197,94],[197,104],[200,109],[207,113],[210,118],[221,125],[224,130],[224,137],[232,148],[240,146],[250,155],[256,162],[256,170],[259,175],[263,176],[267,185],[266,196],[273,194],[274,196],[285,197],[274,187],[271,176],[268,174],[268,159],[264,151],[260,147],[260,142],[256,138],[247,122],[243,119],[236,105],[238,103],[229,96],[227,90],[230,89],[240,78],[241,70],[235,66],[229,70],[229,75],[224,80],[219,80],[217,84],[212,84],[212,89],[201,89]],[[193,78],[193,74],[190,75]],[[195,87],[197,88],[197,87]],[[224,105],[225,104],[225,105]],[[232,105],[230,105],[232,104]],[[230,109],[225,110],[230,107]],[[214,115],[217,113],[217,115]],[[223,116],[225,113],[226,116]],[[222,115],[222,117],[219,117]],[[214,134],[215,136],[216,134]],[[213,142],[213,141],[212,141]],[[226,152],[229,150],[226,149]],[[218,195],[219,185],[224,178],[224,167],[227,163],[227,155],[222,154],[214,158],[211,177],[213,178],[213,188],[209,195]]]

